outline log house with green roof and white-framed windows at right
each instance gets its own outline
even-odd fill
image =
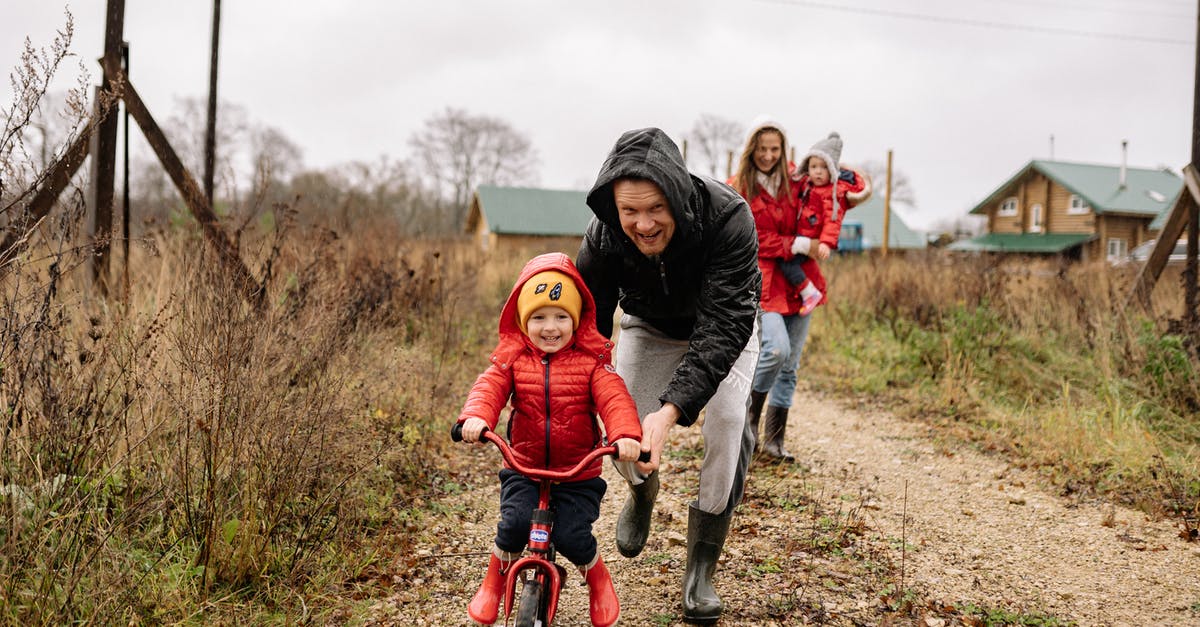
[[[949,250],[1118,259],[1154,237],[1183,179],[1168,169],[1030,161],[971,209],[983,235]]]

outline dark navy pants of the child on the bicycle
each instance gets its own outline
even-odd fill
[[[608,485],[604,479],[556,483],[550,489],[550,508],[554,510],[554,529],[550,539],[554,549],[576,566],[587,566],[596,555],[592,524],[600,518],[600,500]],[[529,543],[529,519],[538,507],[538,482],[509,468],[500,471],[500,521],[496,525],[496,545],[508,553],[521,553]]]

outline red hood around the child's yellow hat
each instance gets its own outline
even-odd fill
[[[575,263],[562,252],[539,255],[526,262],[524,268],[521,269],[521,274],[517,275],[517,280],[512,283],[512,289],[509,292],[509,299],[504,303],[504,310],[500,312],[500,342],[492,352],[492,362],[505,368],[512,363],[516,353],[527,347],[540,353],[540,350],[533,345],[529,336],[517,324],[517,298],[521,295],[521,287],[524,286],[529,277],[546,270],[557,270],[570,276],[571,281],[575,281],[575,287],[580,291],[580,297],[583,300],[583,306],[580,310],[580,326],[575,329],[571,344],[589,354],[594,354],[596,359],[607,362],[611,358],[612,342],[596,330],[595,299],[584,285],[583,276],[580,275],[580,270],[575,267]]]

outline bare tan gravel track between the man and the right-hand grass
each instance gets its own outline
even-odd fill
[[[929,598],[1088,626],[1200,625],[1200,545],[1177,524],[1067,501],[1002,459],[935,446],[928,428],[811,394],[797,398],[790,424],[793,453],[818,476],[871,490],[870,526],[904,531],[916,547],[907,579]]]

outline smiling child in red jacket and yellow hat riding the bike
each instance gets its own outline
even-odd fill
[[[500,314],[500,341],[492,365],[472,386],[458,423],[466,442],[494,430],[511,402],[508,440],[524,465],[565,471],[601,446],[604,422],[623,461],[641,453],[637,406],[611,364],[612,342],[596,330],[595,301],[566,255],[534,257],[521,270]],[[596,460],[578,480],[554,484],[551,532],[558,553],[580,568],[588,584],[592,625],[617,621],[620,607],[612,578],[596,549],[592,524],[600,515],[607,485]],[[500,470],[500,521],[487,574],[467,608],[472,620],[492,625],[504,597],[504,574],[529,538],[538,483],[511,468]]]

